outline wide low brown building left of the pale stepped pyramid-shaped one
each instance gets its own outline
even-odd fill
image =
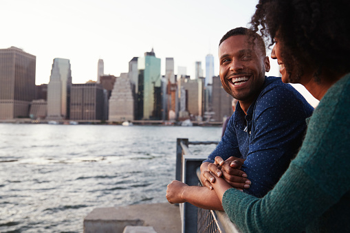
[[[99,83],[73,84],[70,120],[105,120],[104,101],[104,91]]]

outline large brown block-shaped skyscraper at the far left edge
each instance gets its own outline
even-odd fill
[[[36,57],[17,47],[0,49],[0,119],[28,117],[36,96]]]

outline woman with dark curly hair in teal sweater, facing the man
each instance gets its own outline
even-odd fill
[[[350,232],[349,8],[336,0],[256,5],[252,26],[275,43],[283,82],[301,83],[320,103],[298,155],[265,197],[215,177],[212,187],[242,232]]]

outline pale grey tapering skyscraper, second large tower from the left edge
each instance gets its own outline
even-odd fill
[[[47,118],[69,119],[72,71],[68,59],[54,58],[50,82],[47,86]]]

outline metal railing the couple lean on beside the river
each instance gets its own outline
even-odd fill
[[[207,155],[193,155],[189,144],[218,144],[219,142],[188,142],[187,138],[177,138],[176,148],[176,179],[189,186],[198,186],[200,184],[199,166],[208,157]],[[197,173],[197,174],[196,174]],[[179,204],[182,233],[239,233],[237,227],[230,221],[227,214],[218,210],[205,210],[197,208],[190,203]]]

